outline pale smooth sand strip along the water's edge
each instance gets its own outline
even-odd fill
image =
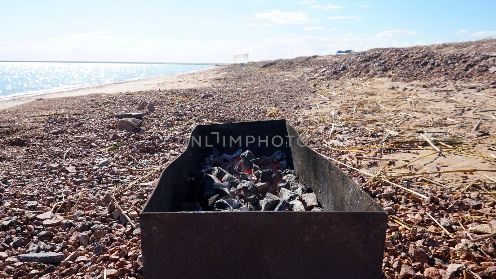
[[[214,76],[217,76],[217,69],[223,66],[214,66],[202,70],[193,70],[183,73],[173,73],[160,76],[135,78],[115,81],[110,83],[90,84],[73,88],[54,88],[53,90],[33,91],[26,94],[13,94],[0,97],[0,110],[18,106],[39,99],[51,99],[60,97],[75,97],[87,94],[114,94],[148,90],[166,90],[180,88],[196,88],[208,86]]]

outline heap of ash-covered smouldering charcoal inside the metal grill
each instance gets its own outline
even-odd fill
[[[213,154],[186,181],[179,211],[323,211],[315,193],[288,167],[286,154]]]

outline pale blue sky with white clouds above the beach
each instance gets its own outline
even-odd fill
[[[0,0],[0,9],[0,60],[229,63],[496,37],[493,0]]]

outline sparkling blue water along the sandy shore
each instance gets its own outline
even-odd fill
[[[189,64],[0,62],[0,97],[34,91],[58,91],[212,67]]]

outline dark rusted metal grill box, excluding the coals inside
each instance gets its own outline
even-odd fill
[[[207,137],[209,146],[190,140],[140,214],[145,278],[380,278],[386,213],[337,166],[300,146],[286,121],[201,125],[191,136]],[[255,142],[225,146],[223,136]],[[269,139],[267,146],[258,136]],[[282,146],[273,144],[279,137],[270,140],[276,136]],[[286,152],[325,211],[176,212],[186,179],[213,147],[255,156]]]

